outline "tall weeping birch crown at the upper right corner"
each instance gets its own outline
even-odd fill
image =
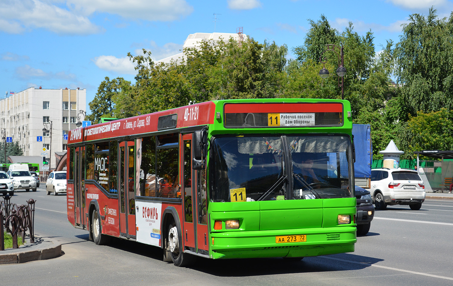
[[[417,111],[453,108],[453,13],[439,19],[436,10],[427,17],[411,14],[395,47],[397,81],[414,115]]]

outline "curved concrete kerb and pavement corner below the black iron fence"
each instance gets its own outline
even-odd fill
[[[34,235],[34,243],[26,235],[25,244],[19,248],[8,248],[0,251],[0,264],[24,263],[34,260],[43,260],[61,255],[61,243],[50,238]]]

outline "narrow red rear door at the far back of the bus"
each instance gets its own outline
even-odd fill
[[[85,147],[76,148],[74,155],[75,221],[76,226],[87,229],[85,209]]]

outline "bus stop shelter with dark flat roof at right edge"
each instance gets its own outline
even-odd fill
[[[453,151],[422,150],[416,151],[417,172],[425,183],[426,191],[449,191],[453,178]],[[420,155],[433,160],[420,160]]]

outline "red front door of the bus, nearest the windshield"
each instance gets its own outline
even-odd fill
[[[182,136],[182,144],[184,246],[208,254],[206,171],[192,169],[192,133]]]

